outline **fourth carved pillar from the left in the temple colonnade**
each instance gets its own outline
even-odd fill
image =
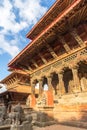
[[[63,94],[63,93],[65,93],[63,72],[58,73],[58,76],[59,76],[59,92],[60,92],[60,94]]]

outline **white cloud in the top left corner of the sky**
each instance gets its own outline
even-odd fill
[[[17,22],[16,15],[13,12],[13,3],[3,0],[3,6],[0,7],[0,26],[14,33],[21,31],[27,24],[26,21]]]

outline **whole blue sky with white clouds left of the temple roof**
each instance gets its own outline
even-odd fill
[[[26,34],[56,0],[0,0],[0,80],[28,43]]]

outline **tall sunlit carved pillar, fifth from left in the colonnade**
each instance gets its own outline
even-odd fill
[[[73,73],[73,80],[74,80],[74,91],[75,92],[80,92],[81,89],[80,89],[80,81],[79,81],[79,77],[78,77],[78,67],[77,66],[74,66],[72,68],[72,73]]]

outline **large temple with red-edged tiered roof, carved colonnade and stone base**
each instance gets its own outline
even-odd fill
[[[86,121],[87,1],[56,0],[26,37],[8,64],[28,75],[26,104],[59,122]]]

